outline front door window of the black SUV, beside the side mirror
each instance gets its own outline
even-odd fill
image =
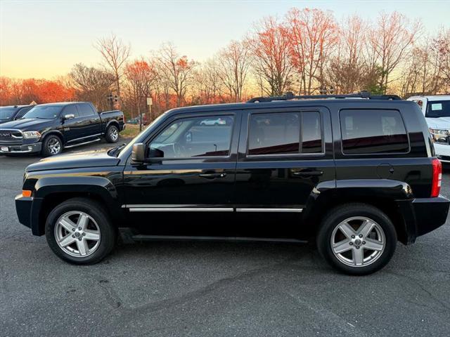
[[[167,159],[229,156],[233,116],[177,119],[151,143]]]

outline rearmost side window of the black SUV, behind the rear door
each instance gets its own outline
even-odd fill
[[[404,122],[396,110],[342,110],[340,128],[345,154],[409,151]]]

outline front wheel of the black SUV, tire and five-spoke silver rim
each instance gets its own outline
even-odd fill
[[[91,199],[73,198],[51,211],[45,235],[56,256],[75,265],[90,265],[100,262],[113,250],[117,231],[101,204]]]

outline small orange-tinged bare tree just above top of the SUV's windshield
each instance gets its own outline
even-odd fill
[[[192,85],[195,62],[179,55],[172,44],[163,44],[157,53],[160,75],[176,95],[176,106],[186,104],[186,93]]]

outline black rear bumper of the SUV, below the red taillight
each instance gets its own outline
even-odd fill
[[[412,244],[420,235],[444,225],[449,213],[450,200],[444,197],[397,202],[404,219],[406,237],[399,237],[404,244]]]

